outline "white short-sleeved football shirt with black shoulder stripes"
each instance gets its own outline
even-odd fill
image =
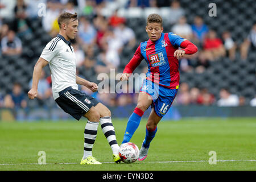
[[[52,77],[53,98],[59,97],[59,92],[71,86],[78,89],[76,84],[76,56],[71,43],[61,35],[53,38],[43,49],[41,56],[49,62]]]

